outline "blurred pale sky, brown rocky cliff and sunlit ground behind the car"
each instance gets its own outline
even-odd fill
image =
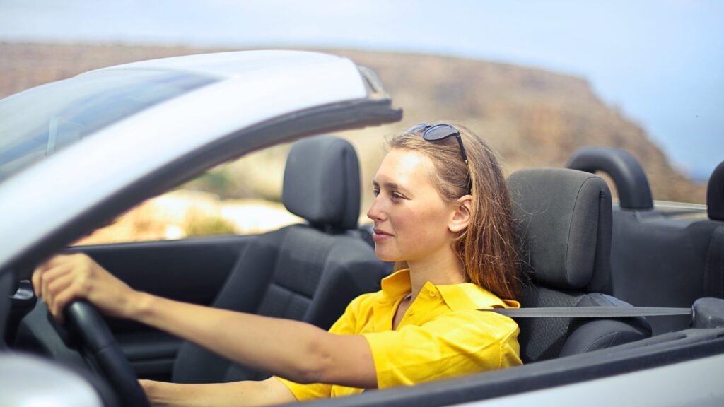
[[[724,159],[720,1],[0,0],[0,97],[97,67],[241,49],[310,49],[374,69],[403,121],[342,134],[363,205],[384,139],[418,122],[471,127],[507,172],[622,148],[654,199],[703,204]],[[279,204],[288,146],[154,198],[83,243],[253,233]]]

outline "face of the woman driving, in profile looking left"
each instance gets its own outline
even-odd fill
[[[415,261],[450,250],[454,206],[433,183],[434,165],[416,151],[393,148],[374,176],[375,253],[384,261]]]

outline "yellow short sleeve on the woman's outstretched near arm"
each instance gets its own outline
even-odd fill
[[[419,326],[362,335],[381,389],[521,364],[518,324],[487,312],[453,311]]]

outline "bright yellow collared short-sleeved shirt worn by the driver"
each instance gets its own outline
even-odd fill
[[[363,335],[372,351],[377,386],[414,385],[521,364],[518,324],[481,308],[519,308],[473,283],[433,285],[426,282],[397,330],[392,319],[410,293],[410,271],[382,280],[382,290],[360,295],[329,332]],[[300,385],[281,379],[299,401],[361,393],[340,385]]]

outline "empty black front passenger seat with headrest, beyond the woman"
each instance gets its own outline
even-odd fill
[[[213,306],[328,329],[353,298],[379,290],[389,269],[357,230],[359,168],[350,143],[333,136],[295,143],[287,158],[282,201],[308,225],[258,236],[241,254]],[[264,377],[185,343],[172,379],[230,382]]]

